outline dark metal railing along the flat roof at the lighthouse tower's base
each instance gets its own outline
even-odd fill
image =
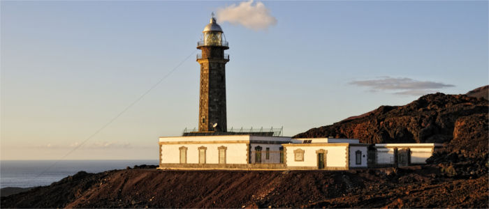
[[[280,128],[228,128],[227,132],[198,132],[198,130],[194,127],[194,129],[187,129],[182,133],[182,136],[207,136],[207,135],[253,135],[253,136],[265,136],[265,137],[283,137],[282,131],[284,127]]]

